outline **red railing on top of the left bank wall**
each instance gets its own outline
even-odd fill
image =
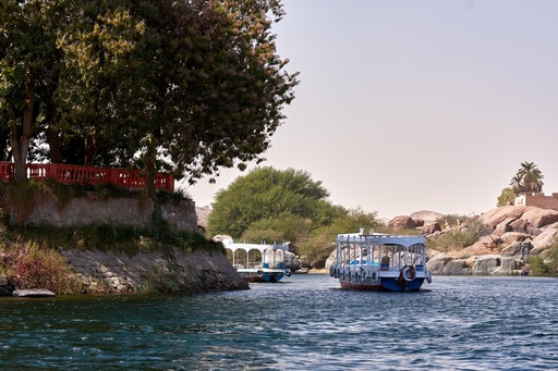
[[[0,178],[4,182],[14,177],[12,162],[0,161]],[[142,188],[145,187],[145,172],[129,171],[112,168],[90,168],[65,165],[61,163],[28,163],[27,177],[45,182],[54,180],[63,184],[112,184],[117,187]],[[174,190],[174,178],[170,174],[157,173],[155,188]]]

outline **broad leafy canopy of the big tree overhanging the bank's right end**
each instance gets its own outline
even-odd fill
[[[96,9],[102,16],[85,20],[85,32],[73,34],[77,42],[65,45],[75,76],[66,81],[83,82],[65,100],[70,108],[94,102],[84,134],[99,143],[119,138],[120,152],[135,156],[148,176],[166,169],[192,184],[235,161],[244,169],[262,160],[296,85],[270,33],[280,3],[118,4]]]

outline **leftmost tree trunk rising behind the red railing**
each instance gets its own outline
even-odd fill
[[[27,178],[27,152],[33,128],[33,107],[35,104],[35,73],[29,71],[25,86],[25,106],[23,108],[22,131],[19,135],[17,126],[10,126],[10,144],[13,151],[15,178]],[[14,115],[12,111],[12,115]]]

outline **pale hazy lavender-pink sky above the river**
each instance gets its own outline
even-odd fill
[[[558,193],[558,1],[282,3],[277,52],[300,85],[260,165],[387,219],[489,211],[525,161]],[[255,166],[184,189],[210,206]]]

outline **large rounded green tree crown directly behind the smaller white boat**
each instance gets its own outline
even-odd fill
[[[332,206],[328,196],[307,172],[258,168],[217,193],[207,234],[301,242],[347,214],[343,208]]]

